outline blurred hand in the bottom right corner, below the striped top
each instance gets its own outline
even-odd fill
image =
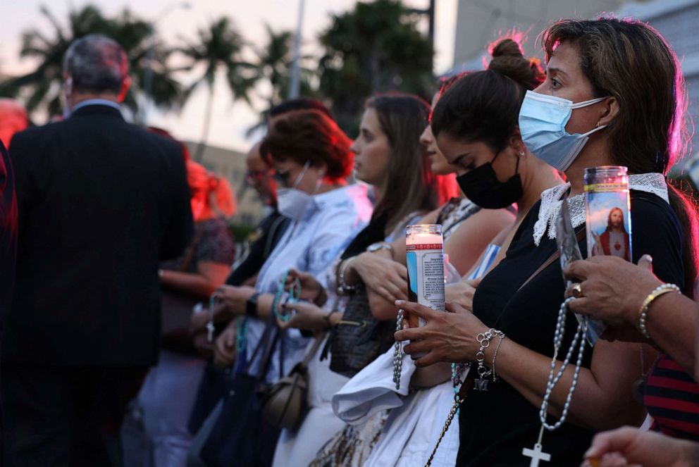
[[[585,467],[691,467],[699,460],[699,444],[625,427],[596,435],[585,458]]]

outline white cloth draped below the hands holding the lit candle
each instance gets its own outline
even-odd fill
[[[357,373],[333,397],[333,410],[353,425],[365,423],[376,413],[389,410],[381,437],[364,467],[424,465],[437,443],[454,401],[452,383],[408,394],[416,370],[403,354],[400,390],[393,382],[393,349]],[[454,466],[459,450],[459,422],[454,420],[440,444],[433,466]]]

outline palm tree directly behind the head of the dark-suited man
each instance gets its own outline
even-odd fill
[[[38,27],[27,30],[23,32],[20,49],[21,57],[37,58],[39,65],[27,75],[11,77],[1,82],[0,96],[15,97],[24,94],[26,90],[28,97],[25,105],[29,111],[44,108],[49,115],[60,113],[63,56],[73,40],[100,33],[116,40],[128,54],[133,85],[125,104],[136,114],[137,95],[143,92],[140,85],[144,68],[151,66],[146,60],[149,24],[135,18],[128,10],[115,18],[106,18],[99,8],[87,5],[80,10],[71,10],[68,13],[68,25],[63,26],[46,6],[42,6],[40,11],[51,23],[53,34],[51,37],[44,35],[42,28]],[[180,105],[182,96],[182,88],[172,76],[175,70],[167,65],[170,54],[171,51],[161,42],[156,42],[153,87],[149,97],[156,106],[163,109]]]

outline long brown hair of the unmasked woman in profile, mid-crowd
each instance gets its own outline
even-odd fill
[[[390,232],[409,213],[432,211],[441,201],[437,176],[419,141],[430,106],[412,94],[390,93],[369,99],[366,108],[376,111],[391,149],[385,192],[374,208],[374,216],[388,216],[386,232]]]

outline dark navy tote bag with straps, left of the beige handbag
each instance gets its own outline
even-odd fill
[[[230,380],[223,397],[221,413],[206,439],[200,458],[209,467],[272,465],[280,430],[262,417],[261,399],[268,391],[264,383],[276,344],[283,341],[272,314],[259,344],[252,353],[245,372]],[[247,373],[261,355],[259,373]],[[282,357],[283,358],[283,357]]]

